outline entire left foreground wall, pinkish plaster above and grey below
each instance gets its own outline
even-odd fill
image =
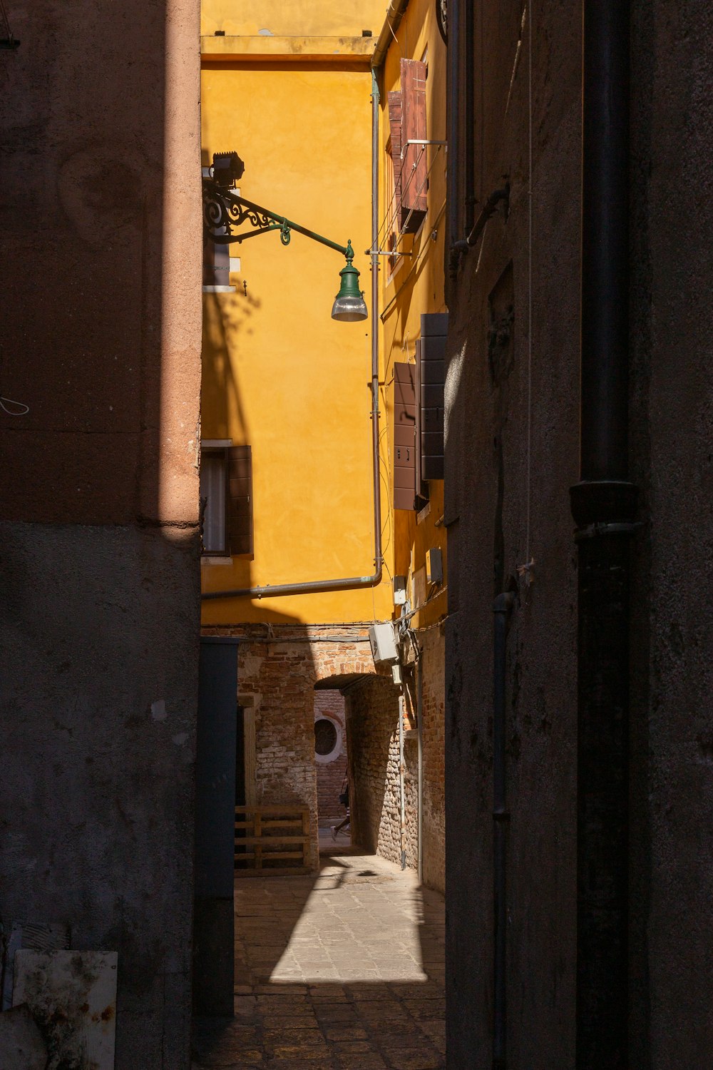
[[[119,952],[117,1070],[188,1065],[198,5],[9,12],[0,915]]]

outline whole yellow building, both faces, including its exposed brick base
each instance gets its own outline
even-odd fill
[[[289,245],[280,224],[245,242],[206,242],[203,631],[239,639],[245,783],[238,784],[238,801],[252,808],[306,808],[309,844],[299,860],[308,867],[316,862],[317,821],[340,815],[328,800],[329,791],[334,798],[339,794],[334,770],[326,786],[329,755],[320,754],[319,746],[315,752],[315,739],[331,738],[329,724],[341,740],[334,748],[335,769],[346,768],[350,750],[353,830],[365,846],[416,866],[428,842],[425,826],[435,821],[434,840],[443,827],[438,792],[431,792],[433,805],[422,793],[425,824],[419,835],[417,786],[420,765],[423,784],[429,776],[438,780],[443,797],[443,658],[436,625],[445,612],[445,577],[427,579],[427,564],[437,572],[439,563],[431,551],[445,550],[443,483],[419,482],[419,496],[414,493],[406,509],[403,493],[394,495],[394,478],[403,482],[407,418],[416,416],[414,403],[406,423],[401,418],[394,374],[408,366],[406,377],[414,378],[421,316],[444,311],[438,227],[445,146],[435,142],[444,138],[445,49],[431,16],[425,4],[413,0],[401,20],[400,51],[392,29],[384,26],[381,3],[353,0],[337,9],[324,2],[289,7],[262,2],[243,4],[239,12],[231,0],[203,3],[204,175],[208,183],[215,177],[216,154],[237,152],[245,171],[233,194],[270,213],[269,219],[260,213],[242,218],[234,235],[286,219],[339,246],[351,241],[369,308],[367,320],[331,319],[343,255],[294,227]],[[428,129],[420,141],[434,143],[405,148],[405,167],[415,163],[423,184],[418,205],[425,208],[412,213],[407,234],[391,229],[374,243],[374,225],[390,225],[394,209],[399,218],[402,212],[394,205],[387,95],[400,89],[402,59],[416,61],[407,66],[409,76],[428,64],[422,94]],[[405,122],[413,125],[412,118]],[[378,196],[373,204],[374,167]],[[389,249],[394,255],[383,255]],[[377,285],[372,294],[373,265]],[[433,418],[434,412],[427,415]],[[401,430],[394,431],[400,419]],[[440,419],[443,440],[443,403]],[[407,453],[415,472],[421,456],[413,418],[410,434]],[[270,596],[270,587],[294,584],[316,588]],[[405,631],[403,685],[394,684],[398,674],[388,664],[374,663],[369,626],[401,617],[402,631],[406,624],[430,629],[416,633],[425,652],[421,672],[427,662],[432,667],[432,687],[425,675],[420,690],[415,685],[413,644]],[[331,697],[328,709],[324,692]],[[434,721],[431,732],[431,746],[440,756],[420,763],[417,692],[425,694],[422,705],[441,725],[438,730]],[[315,735],[315,724],[322,735]],[[421,729],[424,724],[422,712]],[[394,777],[388,801],[384,785]],[[440,886],[443,842],[433,844],[430,857],[430,868],[422,859],[424,874]]]

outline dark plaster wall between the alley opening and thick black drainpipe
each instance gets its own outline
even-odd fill
[[[527,39],[506,108],[521,16],[514,2],[479,10],[474,193],[482,203],[508,175],[510,214],[491,219],[448,295],[448,1052],[449,1066],[469,1066],[492,1046],[492,607],[532,557],[508,654],[508,1065],[571,1070],[580,21],[562,4],[533,13],[529,330]],[[489,352],[509,305],[510,341]]]

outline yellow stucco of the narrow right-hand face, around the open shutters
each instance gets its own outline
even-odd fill
[[[382,121],[381,121],[381,209],[384,219],[392,189],[386,165],[386,147],[389,138],[387,93],[400,88],[400,59],[423,60],[428,62],[427,133],[434,141],[446,140],[446,46],[443,43],[435,18],[435,4],[431,0],[410,0],[404,18],[397,31],[398,44],[392,42],[386,56],[382,76]],[[399,265],[389,277],[386,258],[381,264],[381,308],[382,350],[385,364],[384,408],[389,428],[389,449],[392,448],[393,427],[393,362],[415,361],[416,339],[420,335],[422,312],[447,311],[444,296],[444,249],[446,238],[446,160],[444,147],[430,147],[429,166],[433,165],[429,177],[428,214],[416,235],[406,235],[399,248],[412,254],[400,258]],[[435,234],[435,241],[433,240]],[[392,473],[391,473],[392,485]],[[392,495],[389,494],[389,501]],[[419,605],[427,596],[424,583],[425,552],[430,547],[439,547],[446,566],[446,529],[443,526],[444,485],[443,480],[430,483],[430,505],[428,515],[419,521],[416,513],[391,509],[391,532],[394,553],[394,570],[409,577],[412,605]],[[443,594],[434,592],[430,605],[416,615],[415,625],[423,627],[437,621],[446,613],[445,588]]]

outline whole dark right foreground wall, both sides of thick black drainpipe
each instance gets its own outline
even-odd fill
[[[692,0],[632,6],[631,471],[646,526],[633,542],[630,1055],[637,1070],[664,1070],[707,1065],[713,1046],[712,16]],[[570,1070],[575,1059],[569,487],[578,477],[582,41],[578,9],[536,5],[532,14],[531,295],[528,29],[506,113],[522,9],[487,3],[475,34],[475,212],[507,175],[510,214],[487,224],[448,297],[453,1068],[484,1065],[492,1045],[492,601],[515,584],[507,688],[508,1066]],[[461,152],[458,162],[462,171]],[[501,330],[510,304],[512,321]],[[489,337],[491,327],[498,330]],[[529,584],[517,572],[528,559]]]

